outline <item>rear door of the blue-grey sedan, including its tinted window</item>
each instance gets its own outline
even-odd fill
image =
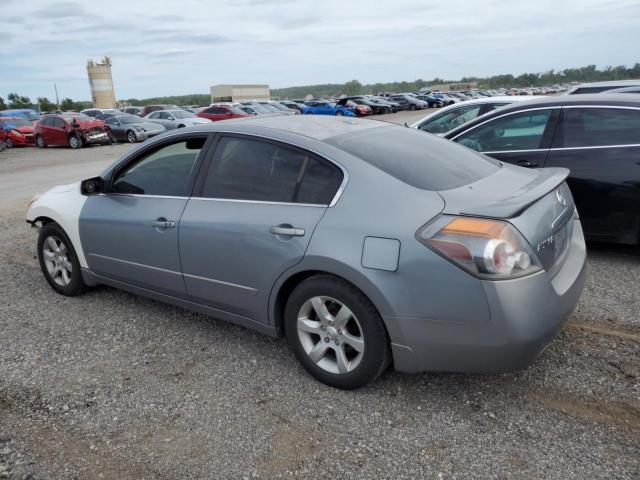
[[[272,286],[304,256],[343,179],[338,166],[305,150],[221,136],[180,222],[192,299],[266,323]]]

